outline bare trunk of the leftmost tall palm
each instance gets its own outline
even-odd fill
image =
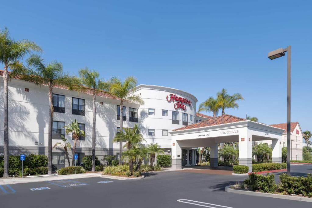
[[[7,99],[7,83],[8,83],[8,72],[7,67],[4,67],[3,81],[4,81],[4,141],[3,141],[3,177],[9,176],[9,117],[8,117],[8,99]]]

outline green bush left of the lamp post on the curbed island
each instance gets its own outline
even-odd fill
[[[243,181],[252,191],[260,191],[265,193],[274,193],[276,191],[276,184],[274,174],[262,176],[259,174],[251,173],[249,178]]]

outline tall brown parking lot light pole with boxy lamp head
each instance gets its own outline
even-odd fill
[[[269,59],[276,59],[281,56],[285,56],[285,52],[287,51],[287,175],[290,176],[290,56],[291,56],[291,47],[287,46],[287,48],[279,48],[275,51],[271,51],[268,54]]]

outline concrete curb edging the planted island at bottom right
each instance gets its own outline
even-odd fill
[[[231,193],[245,194],[245,195],[250,195],[250,196],[265,196],[265,197],[278,198],[278,199],[312,202],[312,198],[308,198],[308,197],[270,194],[270,193],[262,193],[262,192],[255,192],[255,191],[243,191],[243,190],[232,189],[230,188],[230,186],[226,186],[224,190],[227,192],[231,192]]]

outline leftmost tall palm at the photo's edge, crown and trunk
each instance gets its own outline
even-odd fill
[[[7,28],[0,31],[0,63],[3,67],[3,82],[4,82],[4,119],[3,119],[3,132],[4,132],[4,143],[3,143],[3,160],[4,160],[4,171],[3,177],[9,175],[9,127],[8,127],[8,94],[7,84],[9,80],[8,69],[21,68],[22,63],[19,62],[24,58],[25,55],[32,51],[42,51],[42,49],[35,43],[29,40],[15,41],[11,39]]]

